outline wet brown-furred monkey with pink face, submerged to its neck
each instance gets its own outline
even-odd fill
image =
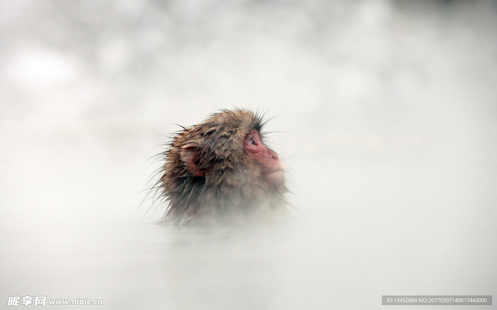
[[[168,204],[159,223],[287,217],[286,168],[265,145],[264,124],[258,113],[236,108],[181,126],[158,155],[163,164],[151,189]]]

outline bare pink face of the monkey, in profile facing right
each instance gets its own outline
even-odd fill
[[[263,178],[269,181],[282,181],[285,166],[280,162],[278,154],[265,146],[257,130],[252,130],[245,138],[244,148],[248,155],[263,166]]]

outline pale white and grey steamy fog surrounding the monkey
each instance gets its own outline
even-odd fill
[[[303,216],[153,225],[163,134],[234,106],[275,117]],[[496,297],[496,121],[495,1],[2,0],[1,308]]]

